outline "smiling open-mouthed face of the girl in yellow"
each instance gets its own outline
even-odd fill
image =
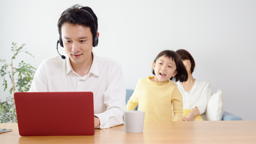
[[[156,82],[165,82],[177,74],[175,62],[166,56],[159,57],[153,62],[153,69]]]

